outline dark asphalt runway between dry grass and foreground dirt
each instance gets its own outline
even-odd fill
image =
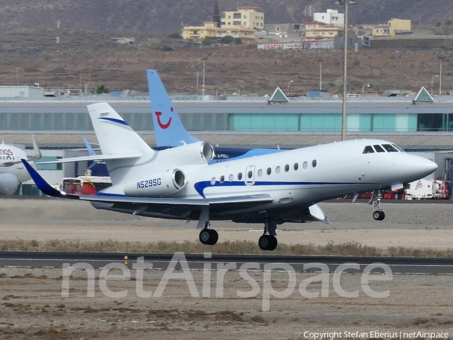
[[[209,254],[209,253],[206,253]],[[209,254],[210,255],[210,254]],[[368,256],[288,256],[288,255],[223,255],[223,254],[185,254],[186,261],[191,269],[203,269],[205,263],[216,264],[225,262],[236,263],[239,269],[244,263],[259,263],[260,270],[267,263],[286,263],[296,271],[304,270],[304,264],[324,263],[334,271],[340,264],[357,263],[360,270],[372,263],[388,265],[394,274],[453,274],[453,258],[445,257],[368,257]],[[155,253],[75,253],[75,252],[0,252],[0,266],[16,267],[62,267],[63,263],[88,263],[95,268],[101,268],[108,263],[124,263],[124,256],[128,257],[128,266],[136,263],[137,257],[144,257],[145,263],[152,263],[153,268],[166,269],[174,254]],[[177,263],[176,268],[181,268]],[[278,270],[278,268],[276,269]],[[316,270],[310,269],[310,270]],[[349,268],[344,271],[357,271]],[[373,271],[383,271],[376,268]]]

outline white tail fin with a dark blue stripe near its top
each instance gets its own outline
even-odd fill
[[[131,151],[142,156],[154,154],[153,149],[109,104],[96,103],[87,107],[103,155],[127,154]]]

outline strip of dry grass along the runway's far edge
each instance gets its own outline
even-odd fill
[[[269,254],[258,248],[252,241],[225,241],[209,247],[198,242],[119,242],[80,241],[80,240],[0,240],[2,251],[62,251],[62,252],[126,252],[126,253],[202,253],[214,254]],[[272,254],[282,255],[352,255],[352,256],[415,256],[415,257],[453,257],[453,248],[438,250],[431,248],[388,247],[377,248],[357,242],[334,243],[326,245],[284,244],[279,243]]]

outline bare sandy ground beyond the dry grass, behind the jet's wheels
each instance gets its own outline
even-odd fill
[[[3,239],[70,239],[81,241],[197,241],[196,222],[162,220],[100,211],[88,202],[60,199],[0,199],[0,237]],[[451,248],[453,206],[450,204],[386,203],[386,219],[374,221],[365,202],[324,202],[330,224],[286,223],[277,238],[286,244],[325,245],[358,242],[387,248]],[[213,221],[219,242],[257,241],[263,226]]]

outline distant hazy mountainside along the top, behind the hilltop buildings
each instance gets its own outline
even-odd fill
[[[237,6],[257,6],[265,22],[301,23],[308,0],[218,0],[220,11]],[[338,8],[334,0],[313,0],[317,12]],[[453,17],[453,2],[437,0],[362,1],[350,6],[351,24],[385,23],[391,18],[411,19],[416,25],[434,25]],[[60,13],[61,28],[95,31],[180,32],[183,25],[200,25],[211,20],[213,0],[3,0],[0,32],[55,28]]]

